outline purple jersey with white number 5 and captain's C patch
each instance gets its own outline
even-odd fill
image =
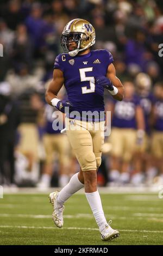
[[[104,113],[104,88],[95,83],[95,78],[106,76],[108,65],[112,62],[112,55],[107,50],[90,51],[75,57],[68,53],[57,56],[54,69],[64,73],[64,85],[73,111]]]

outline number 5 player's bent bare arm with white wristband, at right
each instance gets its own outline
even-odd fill
[[[110,91],[110,93],[117,92],[115,95],[111,93],[112,97],[114,97],[115,100],[123,100],[124,87],[119,78],[116,76],[116,70],[112,63],[108,66],[106,77],[108,77],[111,80],[112,85],[114,86],[114,90]]]

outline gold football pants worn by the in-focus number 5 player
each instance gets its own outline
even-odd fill
[[[101,165],[104,124],[66,118],[66,133],[83,171],[97,170]]]

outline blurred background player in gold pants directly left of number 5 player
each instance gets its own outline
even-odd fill
[[[45,166],[41,176],[38,187],[50,187],[51,178],[53,174],[54,159],[58,159],[59,163],[59,187],[64,187],[68,179],[68,170],[70,167],[70,160],[68,159],[68,152],[70,151],[70,144],[67,136],[60,133],[60,129],[53,129],[53,121],[60,117],[63,123],[64,117],[62,113],[58,115],[58,111],[54,107],[46,104],[45,106],[45,134],[43,135],[43,145],[46,153]],[[54,157],[55,156],[55,157]]]

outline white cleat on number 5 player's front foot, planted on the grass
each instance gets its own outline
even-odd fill
[[[112,239],[117,238],[120,235],[118,230],[112,229],[110,227],[111,220],[108,224],[105,225],[105,228],[101,231],[101,239],[111,241]]]

